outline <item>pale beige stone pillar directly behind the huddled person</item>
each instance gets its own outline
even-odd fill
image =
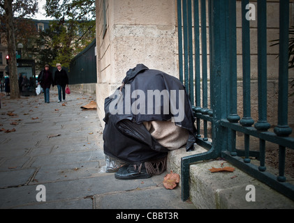
[[[103,1],[96,0],[96,96],[101,120],[104,99],[138,63],[177,77],[175,10],[173,0],[105,0],[107,30],[103,33]]]

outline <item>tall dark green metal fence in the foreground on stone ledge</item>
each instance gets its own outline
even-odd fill
[[[270,123],[267,122],[266,0],[257,1],[258,121],[255,123],[251,118],[250,27],[246,18],[248,3],[249,0],[242,0],[242,15],[238,15],[242,16],[243,117],[240,118],[237,114],[236,1],[177,0],[179,79],[186,86],[193,104],[198,129],[197,144],[207,148],[205,153],[182,157],[184,201],[189,198],[189,165],[217,157],[225,158],[242,171],[294,200],[294,185],[287,182],[284,174],[285,150],[294,149],[294,138],[289,137],[292,130],[287,118],[289,1],[279,1],[279,106],[278,121],[273,123],[277,124],[274,132],[268,131]],[[209,64],[207,47],[210,52]],[[207,80],[208,68],[210,81]],[[207,137],[207,123],[211,123],[212,140]],[[243,150],[236,149],[237,132],[244,134]],[[252,137],[258,138],[259,151],[250,151]],[[266,142],[269,141],[279,146],[278,176],[270,174],[265,167]],[[257,157],[259,165],[253,164],[251,157]]]

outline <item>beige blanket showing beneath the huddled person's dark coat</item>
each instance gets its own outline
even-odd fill
[[[161,146],[175,150],[184,146],[189,138],[189,131],[171,121],[149,121],[145,128],[152,134]]]

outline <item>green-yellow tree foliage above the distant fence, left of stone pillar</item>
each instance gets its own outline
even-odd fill
[[[46,0],[45,10],[54,18],[50,32],[56,55],[50,63],[69,67],[71,59],[95,38],[95,1]]]

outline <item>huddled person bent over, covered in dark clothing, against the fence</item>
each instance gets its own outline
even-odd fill
[[[121,180],[149,178],[166,170],[168,151],[196,141],[193,112],[179,79],[143,64],[126,72],[122,86],[105,98],[106,172]]]

